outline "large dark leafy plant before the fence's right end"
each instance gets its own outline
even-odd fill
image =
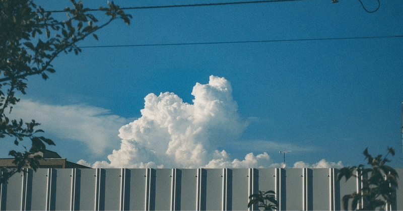
[[[351,210],[385,210],[386,204],[393,204],[396,200],[396,188],[398,174],[396,170],[385,165],[390,162],[387,156],[394,156],[394,150],[387,148],[387,154],[383,157],[378,155],[372,157],[368,153],[368,148],[363,154],[370,166],[365,168],[365,165],[345,167],[340,169],[337,180],[340,181],[343,177],[346,181],[351,177],[362,178],[362,188],[358,192],[347,194],[343,197],[343,208],[349,210],[349,201],[351,200]]]

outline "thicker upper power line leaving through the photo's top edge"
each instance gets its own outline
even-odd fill
[[[221,6],[221,5],[243,5],[257,3],[275,3],[275,2],[297,2],[307,0],[271,0],[271,1],[252,1],[252,2],[226,2],[226,3],[209,3],[209,4],[191,4],[191,5],[166,5],[166,6],[148,6],[148,7],[127,7],[121,10],[141,10],[141,9],[159,9],[159,8],[183,8],[183,7],[205,7],[205,6]],[[100,11],[99,9],[90,9],[89,11]],[[48,13],[62,13],[64,10],[46,11]]]

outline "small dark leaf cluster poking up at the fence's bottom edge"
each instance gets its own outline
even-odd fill
[[[260,191],[249,196],[248,208],[257,204],[258,209],[263,211],[277,210],[279,203],[276,200],[276,193],[273,190]]]

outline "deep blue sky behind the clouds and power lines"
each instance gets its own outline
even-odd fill
[[[114,2],[121,7],[220,3]],[[89,8],[106,5],[83,3]],[[38,4],[47,10],[69,6]],[[375,0],[363,4],[368,10],[377,7]],[[140,163],[144,167],[148,162],[154,162],[148,167],[203,167],[208,163],[217,164],[213,167],[276,167],[283,162],[279,151],[292,151],[286,154],[287,167],[296,163],[314,167],[322,159],[333,166],[340,161],[343,166],[358,165],[365,162],[365,148],[377,155],[392,147],[396,155],[391,165],[401,168],[402,38],[309,39],[403,35],[402,8],[400,1],[381,1],[379,10],[369,14],[358,1],[331,4],[323,0],[127,10],[133,15],[129,26],[117,20],[97,32],[99,41],[90,38],[79,46],[270,42],[83,48],[78,56],[63,54],[55,59],[56,73],[47,81],[29,78],[28,94],[21,96],[21,107],[13,115],[42,122],[45,135],[56,143],[50,150],[73,162],[83,159],[92,165],[99,161],[101,167],[110,165],[108,155],[113,150],[112,167],[136,162],[139,165],[130,167],[141,167]],[[232,92],[213,89],[217,88],[213,82]],[[183,144],[187,138],[175,139],[186,136],[181,127],[198,125],[194,121],[170,122],[177,133],[169,132],[171,136],[162,140],[167,132],[160,131],[163,123],[155,123],[159,120],[151,119],[152,113],[141,113],[148,102],[145,97],[154,93],[163,102],[171,96],[160,93],[169,92],[177,96],[169,102],[197,107],[192,95],[196,83],[201,86],[193,94],[201,101],[203,92],[219,92],[201,104],[223,102],[225,106],[216,108],[222,116],[197,120],[198,113],[189,114],[194,121],[204,122],[200,143],[198,136],[192,136],[190,144]],[[158,107],[159,114],[172,109],[163,105],[167,107]],[[234,105],[237,110],[227,112]],[[179,119],[180,115],[168,116]],[[146,138],[118,131],[130,122],[137,125],[133,134],[143,131],[141,124],[152,124],[152,135]],[[131,150],[121,145],[123,139]],[[181,143],[180,149],[200,144],[207,154],[203,162],[187,165],[175,152],[165,155],[169,148],[157,149],[173,142]],[[7,147],[14,149],[11,144]],[[253,157],[245,158],[249,153]],[[169,159],[176,163],[164,161]],[[235,165],[234,159],[245,162]]]

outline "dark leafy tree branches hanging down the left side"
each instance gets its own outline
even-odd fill
[[[0,183],[6,182],[16,172],[21,172],[25,165],[34,170],[38,167],[38,158],[29,155],[46,148],[46,145],[54,145],[51,139],[38,136],[43,132],[34,129],[39,123],[32,120],[25,122],[9,119],[13,105],[20,99],[16,92],[26,94],[27,77],[39,75],[44,80],[49,73],[54,73],[52,61],[61,52],[81,52],[77,42],[94,34],[97,30],[120,18],[125,24],[130,24],[131,15],[125,14],[113,2],[108,2],[107,8],[99,8],[109,17],[105,23],[96,25],[95,18],[88,8],[84,8],[81,2],[71,0],[73,8],[65,8],[67,20],[59,21],[52,17],[51,12],[46,12],[42,7],[34,4],[33,0],[2,0],[0,2],[0,138],[7,136],[14,139],[14,144],[19,145],[24,138],[31,140],[29,150],[25,152],[10,151],[9,155],[15,158],[15,169],[0,169],[2,173]],[[6,111],[7,110],[7,111]]]

